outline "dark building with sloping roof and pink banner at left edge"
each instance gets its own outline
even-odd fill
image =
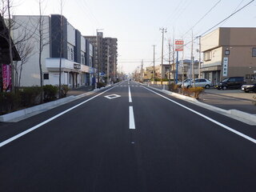
[[[6,24],[0,15],[0,92],[11,90],[11,66],[10,66],[10,48],[8,39],[9,30],[6,27]],[[14,42],[11,39],[12,45],[12,56],[13,61],[20,61],[21,58],[14,46]]]

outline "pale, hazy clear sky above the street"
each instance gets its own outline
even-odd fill
[[[168,42],[183,39],[185,43],[201,35],[242,8],[251,0],[62,0],[62,14],[83,35],[95,35],[102,29],[104,37],[118,38],[118,70],[132,73],[141,65],[161,64],[162,33],[164,63],[168,61]],[[37,15],[38,0],[13,0],[13,14]],[[61,0],[44,0],[45,15],[60,14]],[[218,27],[256,27],[256,1],[234,14]],[[200,21],[200,22],[198,22]],[[213,29],[213,30],[214,30]],[[242,37],[241,37],[242,38]],[[198,58],[198,41],[194,41],[194,57]],[[191,44],[184,48],[190,59]]]

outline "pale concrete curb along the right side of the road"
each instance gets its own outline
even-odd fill
[[[223,110],[221,108],[218,108],[217,106],[210,106],[206,103],[199,102],[196,98],[190,98],[188,96],[182,95],[182,94],[176,94],[174,92],[171,92],[169,90],[159,90],[154,87],[150,87],[153,90],[158,90],[164,94],[168,94],[170,96],[173,96],[175,98],[180,98],[182,100],[185,100],[186,102],[193,103],[194,105],[201,106],[207,110],[212,110],[218,114],[226,115],[227,117],[234,118],[238,121],[245,122],[249,125],[256,126],[256,117],[254,114],[248,114],[246,112],[243,112],[241,110]]]

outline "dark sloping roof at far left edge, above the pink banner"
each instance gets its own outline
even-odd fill
[[[10,63],[10,55],[9,55],[9,43],[8,43],[9,33],[6,27],[6,24],[0,15],[0,63],[9,64]],[[13,60],[20,61],[21,58],[14,46],[14,42],[11,42],[12,50],[13,50]]]

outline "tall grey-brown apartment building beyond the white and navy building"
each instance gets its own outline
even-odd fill
[[[118,39],[103,38],[103,33],[98,32],[97,36],[84,36],[94,46],[94,66],[99,71],[99,81],[106,82],[109,66],[110,82],[117,79],[118,63]]]

